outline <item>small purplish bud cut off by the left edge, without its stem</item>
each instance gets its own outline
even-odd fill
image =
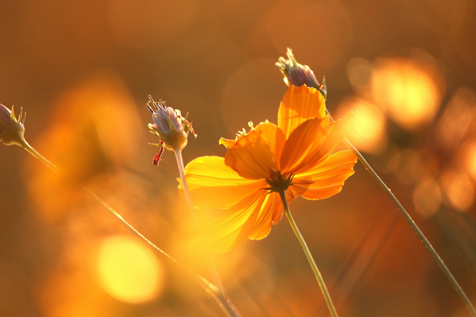
[[[15,117],[13,106],[11,111],[6,106],[0,105],[0,143],[5,145],[22,145],[25,143],[23,134],[25,133],[26,113],[20,108],[18,119]]]

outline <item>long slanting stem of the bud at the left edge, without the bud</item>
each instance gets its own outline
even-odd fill
[[[38,159],[41,163],[45,164],[48,168],[50,168],[54,172],[58,172],[59,169],[56,167],[53,163],[48,161],[43,155],[41,155],[38,151],[36,151],[25,139],[22,140],[22,143],[20,144],[21,147],[23,147],[25,150],[28,151],[31,155],[33,155],[36,159]],[[192,279],[194,279],[200,287],[202,287],[217,303],[218,306],[225,312],[225,314],[228,317],[234,317],[231,316],[228,313],[227,308],[225,307],[226,305],[223,303],[221,298],[219,298],[220,290],[210,283],[207,279],[204,277],[198,275],[195,273],[192,269],[189,269],[188,267],[182,265],[180,262],[178,262],[176,259],[172,258],[169,254],[167,254],[165,251],[160,249],[158,246],[156,246],[152,241],[147,239],[142,233],[140,233],[137,229],[135,229],[129,222],[127,222],[124,217],[122,217],[119,212],[115,211],[111,206],[109,206],[106,202],[104,202],[101,198],[99,198],[95,193],[89,191],[86,187],[82,187],[82,190],[89,195],[90,197],[94,198],[97,202],[99,202],[102,206],[106,208],[123,226],[126,228],[129,233],[134,235],[136,238],[139,240],[142,240],[145,242],[149,247],[152,248],[152,250],[159,256],[164,257],[167,262],[172,263],[176,265],[178,268],[184,270]]]

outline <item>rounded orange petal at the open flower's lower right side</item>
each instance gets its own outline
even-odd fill
[[[342,190],[345,180],[354,173],[356,162],[357,156],[351,150],[329,155],[316,167],[296,174],[291,188],[306,199],[328,198]]]

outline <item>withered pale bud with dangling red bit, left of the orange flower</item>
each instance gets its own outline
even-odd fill
[[[155,102],[149,96],[147,109],[154,121],[153,124],[149,124],[150,132],[159,137],[159,144],[154,145],[161,147],[153,160],[153,164],[157,166],[164,147],[170,151],[180,151],[187,145],[188,133],[191,132],[195,138],[197,134],[193,131],[192,124],[187,121],[187,117],[182,117],[180,110],[166,106],[162,99]],[[188,128],[187,132],[185,127]]]

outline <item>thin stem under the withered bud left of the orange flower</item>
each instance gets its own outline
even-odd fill
[[[188,190],[187,179],[185,178],[185,168],[183,164],[182,151],[175,150],[174,153],[175,153],[175,158],[177,160],[178,173],[180,174],[180,179],[182,180],[183,192],[185,193],[185,199],[188,204],[188,210],[190,211],[192,220],[194,221],[195,226],[198,229],[197,214],[195,213],[195,207],[193,206],[192,198],[190,196],[190,191]],[[215,282],[215,284],[218,285],[221,295],[223,296],[226,303],[228,304],[228,313],[231,314],[233,317],[241,317],[241,314],[239,313],[238,308],[235,307],[235,305],[231,301],[231,298],[229,298],[227,290],[225,289],[225,287],[223,286],[221,282],[217,267],[215,266],[215,262],[211,258],[210,254],[208,254],[208,256],[210,261],[210,272],[213,276],[213,281]]]

